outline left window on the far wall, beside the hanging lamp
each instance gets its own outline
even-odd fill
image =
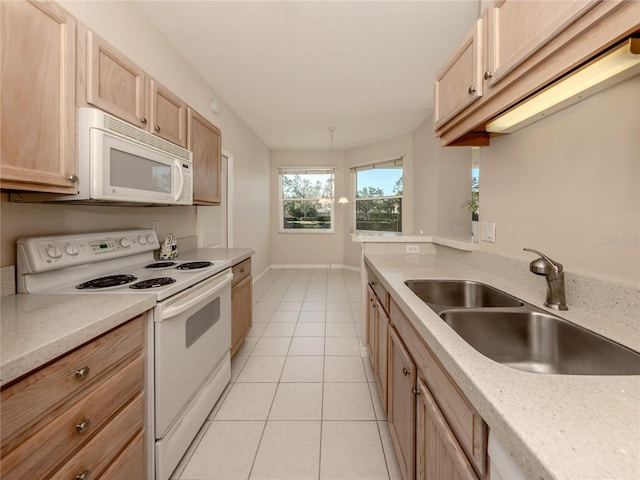
[[[333,232],[333,168],[280,169],[280,231]]]

